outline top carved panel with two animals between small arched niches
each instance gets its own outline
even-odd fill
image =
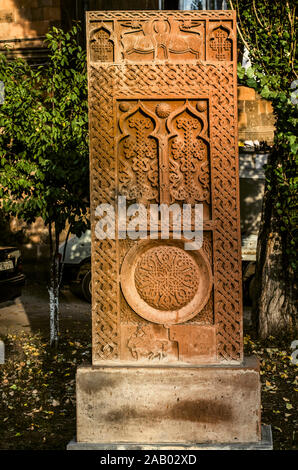
[[[122,15],[116,23],[111,21],[120,16],[116,13],[89,15],[92,62],[233,60],[233,24],[227,12],[224,15],[202,13],[200,19],[178,12],[171,16],[160,12],[158,17],[143,12],[141,18],[131,12]],[[220,16],[223,18],[218,21]]]

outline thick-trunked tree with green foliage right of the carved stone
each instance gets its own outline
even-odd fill
[[[242,84],[272,102],[274,149],[257,248],[255,315],[261,337],[294,331],[297,300],[296,2],[230,0],[252,66],[238,69]]]

